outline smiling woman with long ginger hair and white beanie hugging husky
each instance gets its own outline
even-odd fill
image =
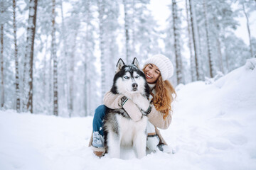
[[[174,87],[171,86],[167,80],[174,74],[174,67],[169,58],[164,55],[154,55],[146,60],[144,68],[142,69],[146,75],[146,81],[151,90],[151,98],[149,101],[144,98],[139,101],[131,101],[130,99],[122,103],[122,98],[125,96],[121,94],[112,94],[110,91],[105,94],[104,105],[99,106],[95,110],[92,128],[93,134],[89,146],[92,146],[94,153],[101,157],[105,153],[104,138],[102,130],[102,120],[105,116],[106,106],[108,108],[124,108],[130,115],[132,120],[138,121],[142,118],[142,113],[139,108],[147,110],[149,125],[148,129],[153,126],[154,132],[148,132],[148,141],[150,137],[157,139],[157,147],[163,152],[170,152],[164,138],[157,128],[167,129],[171,124],[171,103],[174,101],[173,94],[176,95]],[[143,106],[139,107],[138,106]],[[146,107],[145,107],[146,106]],[[129,109],[128,109],[129,108]],[[130,112],[132,110],[132,112]],[[147,147],[151,147],[147,144]]]

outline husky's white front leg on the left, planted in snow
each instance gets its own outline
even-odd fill
[[[120,137],[117,134],[109,134],[108,139],[108,149],[110,157],[119,158],[120,157]]]

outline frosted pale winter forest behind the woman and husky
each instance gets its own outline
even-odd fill
[[[213,81],[255,57],[255,0],[169,0],[164,26],[151,1],[0,0],[0,109],[93,115],[119,58],[143,65],[164,54],[178,86]],[[235,34],[238,18],[248,41]]]

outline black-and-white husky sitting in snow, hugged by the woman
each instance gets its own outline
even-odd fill
[[[113,94],[124,94],[133,100],[136,94],[149,98],[149,85],[144,73],[139,69],[139,62],[134,58],[132,64],[125,65],[122,59],[117,62],[114,75]],[[138,158],[146,155],[146,113],[142,111],[142,119],[134,122],[123,108],[107,108],[103,120],[105,145],[110,157],[120,157],[120,147],[133,147]]]

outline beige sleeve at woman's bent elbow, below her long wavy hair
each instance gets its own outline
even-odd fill
[[[149,118],[149,122],[155,125],[157,128],[167,129],[171,124],[171,111],[164,119],[164,113],[156,111],[154,105],[151,106],[151,112],[147,116]]]

